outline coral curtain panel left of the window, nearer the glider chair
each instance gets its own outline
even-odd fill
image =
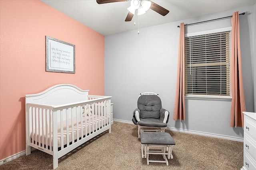
[[[185,120],[185,29],[180,23],[180,40],[178,48],[178,69],[176,80],[176,97],[173,117],[175,121]]]

